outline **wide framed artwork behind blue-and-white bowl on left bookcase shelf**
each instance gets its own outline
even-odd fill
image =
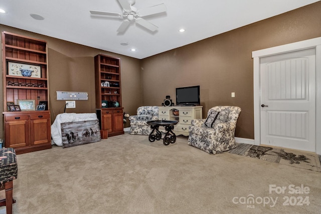
[[[8,75],[41,78],[41,66],[8,62]]]

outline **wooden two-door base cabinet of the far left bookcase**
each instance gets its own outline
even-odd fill
[[[51,148],[50,112],[4,112],[6,147],[17,154]]]

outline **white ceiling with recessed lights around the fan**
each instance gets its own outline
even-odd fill
[[[0,0],[0,24],[73,43],[143,59],[182,47],[319,0],[136,0],[143,9],[164,3],[167,12],[144,18],[150,32],[131,23],[117,34],[122,19],[93,16],[89,10],[121,13],[117,0]],[[44,17],[35,20],[30,14]],[[180,33],[179,29],[186,31]],[[120,43],[128,43],[122,46]],[[132,52],[131,49],[136,51]]]

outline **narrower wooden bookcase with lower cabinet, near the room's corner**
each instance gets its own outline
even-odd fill
[[[95,56],[95,85],[101,137],[124,134],[119,58]]]

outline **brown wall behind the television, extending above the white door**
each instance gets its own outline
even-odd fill
[[[321,37],[321,2],[142,60],[144,104],[200,85],[203,117],[217,105],[242,108],[237,137],[254,139],[252,51]],[[235,92],[235,98],[231,98]]]

